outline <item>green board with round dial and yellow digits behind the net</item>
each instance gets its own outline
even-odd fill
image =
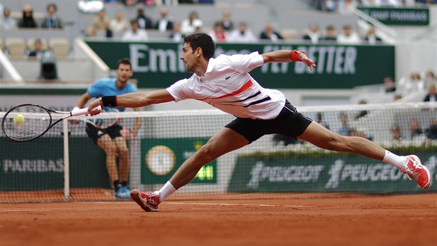
[[[165,183],[209,138],[142,139],[142,183]],[[217,183],[216,160],[204,165],[191,183]]]

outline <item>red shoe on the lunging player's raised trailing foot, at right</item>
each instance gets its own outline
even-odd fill
[[[409,178],[414,179],[416,183],[422,188],[427,189],[431,183],[431,175],[425,165],[422,165],[418,156],[405,156],[406,163],[401,167],[401,172],[408,175]]]

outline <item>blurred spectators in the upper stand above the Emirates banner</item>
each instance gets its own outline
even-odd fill
[[[382,38],[377,35],[375,28],[371,26],[366,35],[359,35],[354,31],[351,24],[346,24],[341,31],[336,31],[332,24],[327,24],[325,30],[320,30],[317,23],[309,24],[309,28],[301,30],[293,37],[286,36],[281,30],[267,22],[264,29],[259,33],[254,33],[249,22],[235,23],[232,19],[232,11],[224,10],[222,18],[217,19],[213,26],[205,26],[199,13],[191,11],[185,19],[173,19],[169,15],[166,1],[160,2],[160,17],[152,19],[146,13],[147,5],[156,4],[158,1],[87,1],[83,5],[78,5],[85,13],[95,15],[92,24],[86,27],[84,35],[86,37],[105,37],[122,38],[123,40],[148,40],[148,31],[155,30],[161,33],[168,33],[167,38],[179,41],[183,35],[194,32],[206,32],[211,35],[216,42],[277,42],[280,40],[301,40],[303,42],[337,42],[339,44],[383,44]],[[179,1],[180,2],[180,1]],[[132,16],[125,17],[121,10],[114,16],[108,16],[105,4],[127,4],[134,5]],[[139,4],[142,3],[142,4]],[[89,5],[89,6],[88,6]],[[0,8],[1,9],[1,8]],[[10,16],[10,8],[3,8],[3,15],[0,18],[0,29],[8,31],[16,28],[63,28],[64,22],[58,15],[58,6],[50,3],[46,7],[46,17],[37,21],[33,17],[33,7],[26,3],[22,9],[22,17],[15,19]],[[132,22],[137,20],[137,22]],[[137,26],[138,24],[138,26]]]

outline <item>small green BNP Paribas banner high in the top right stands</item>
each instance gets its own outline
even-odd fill
[[[429,8],[367,8],[358,7],[372,18],[386,25],[393,26],[427,26],[429,25]]]

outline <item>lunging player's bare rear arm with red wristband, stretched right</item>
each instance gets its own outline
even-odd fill
[[[278,50],[262,54],[262,57],[264,58],[264,63],[289,63],[291,61],[300,61],[305,63],[305,65],[307,65],[311,70],[316,67],[316,63],[309,59],[307,54],[303,51]]]

